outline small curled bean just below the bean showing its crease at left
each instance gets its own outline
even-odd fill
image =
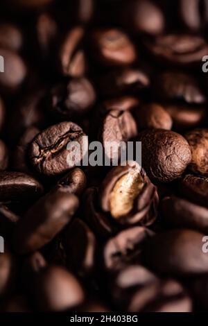
[[[87,186],[86,175],[83,170],[75,168],[58,181],[57,188],[68,194],[80,196]]]

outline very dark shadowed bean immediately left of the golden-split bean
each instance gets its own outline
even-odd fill
[[[111,223],[110,219],[98,205],[98,190],[96,187],[85,191],[84,212],[87,224],[92,228],[98,239],[106,239],[116,232],[116,225]]]

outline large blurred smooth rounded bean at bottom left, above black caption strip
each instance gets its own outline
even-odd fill
[[[76,277],[61,266],[49,266],[42,270],[36,277],[33,291],[40,311],[76,309],[85,299]]]

